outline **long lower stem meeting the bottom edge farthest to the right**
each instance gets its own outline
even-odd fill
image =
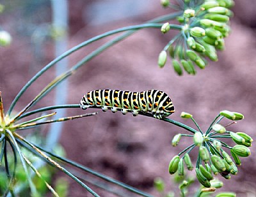
[[[60,156],[58,156],[58,155],[56,155],[56,154],[54,154],[54,153],[52,153],[52,152],[49,152],[49,151],[43,149],[42,147],[39,147],[38,145],[35,145],[35,144],[33,144],[33,143],[28,142],[28,141],[27,141],[26,139],[24,139],[24,138],[22,138],[22,139],[20,139],[20,140],[21,140],[22,142],[28,144],[30,147],[35,146],[37,149],[42,150],[43,152],[49,154],[50,156],[55,157],[55,158],[57,158],[57,159],[60,159],[60,161],[63,161],[63,162],[68,163],[68,164],[71,164],[72,166],[76,166],[77,168],[79,168],[79,169],[81,169],[81,170],[84,170],[84,171],[86,171],[86,172],[88,172],[88,173],[91,173],[92,175],[95,175],[96,177],[99,177],[100,179],[103,179],[103,180],[106,180],[106,181],[111,182],[111,183],[113,183],[113,184],[116,184],[117,186],[123,187],[124,189],[127,189],[127,190],[129,190],[129,191],[131,191],[131,192],[133,192],[133,193],[139,194],[139,195],[141,195],[141,196],[152,197],[150,194],[143,193],[142,191],[140,191],[140,190],[138,190],[138,189],[136,189],[136,188],[134,188],[134,187],[131,187],[131,186],[127,185],[127,184],[124,184],[124,183],[122,183],[122,182],[119,182],[118,180],[115,180],[115,179],[112,179],[112,178],[110,178],[110,177],[107,177],[106,175],[102,175],[102,174],[100,174],[100,173],[98,173],[98,172],[96,172],[96,171],[93,171],[93,170],[90,169],[90,168],[87,168],[86,166],[82,166],[81,164],[76,163],[75,161],[72,161],[72,160],[70,160],[70,159],[66,159],[66,158],[64,158],[64,157],[60,157]]]

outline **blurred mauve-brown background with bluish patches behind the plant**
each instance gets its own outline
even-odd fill
[[[0,91],[5,109],[22,86],[56,54],[106,31],[142,24],[173,11],[163,9],[158,0],[2,0],[0,3],[5,6],[0,14],[0,29],[12,35],[11,45],[0,48]],[[221,110],[241,112],[245,119],[229,129],[244,131],[256,138],[255,8],[254,0],[236,1],[232,9],[235,13],[231,20],[232,33],[225,39],[225,51],[218,52],[218,62],[210,62],[195,76],[178,77],[170,61],[160,69],[157,66],[159,52],[175,32],[163,35],[157,29],[145,29],[92,59],[68,78],[59,92],[52,91],[34,108],[56,103],[78,104],[85,92],[95,89],[161,89],[170,95],[175,105],[176,112],[171,119],[193,126],[189,120],[179,117],[181,112],[189,112],[205,130]],[[61,62],[59,72],[65,66],[70,68],[109,39],[97,41],[70,55]],[[55,75],[56,67],[40,77],[20,98],[15,110],[21,110]],[[191,144],[191,139],[182,138],[178,147],[172,147],[171,141],[175,134],[186,131],[157,119],[132,117],[130,113],[124,116],[97,109],[87,112],[99,112],[99,115],[65,122],[62,127],[60,123],[56,128],[42,127],[41,131],[47,136],[51,129],[61,130],[59,140],[67,157],[93,170],[156,196],[153,188],[156,177],[163,177],[168,189],[175,190],[168,164],[175,154]],[[84,112],[80,109],[72,109],[59,114],[81,113]],[[54,135],[54,138],[58,140],[59,137]],[[254,146],[251,150],[252,156],[242,159],[238,175],[231,180],[220,177],[225,184],[222,191],[234,191],[237,196],[256,195]],[[192,157],[194,163],[195,158]],[[68,196],[84,194],[82,187],[67,180],[70,184]],[[113,196],[92,188],[101,196]]]

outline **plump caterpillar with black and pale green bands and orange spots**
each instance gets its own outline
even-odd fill
[[[83,96],[80,106],[83,110],[90,106],[101,106],[104,112],[111,110],[113,113],[120,109],[123,114],[132,112],[134,116],[139,112],[150,112],[157,119],[175,112],[170,97],[165,92],[157,90],[144,92],[109,89],[90,91]]]

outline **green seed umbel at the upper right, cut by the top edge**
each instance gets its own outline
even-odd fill
[[[204,69],[209,60],[218,61],[216,51],[225,48],[224,38],[230,33],[229,20],[233,13],[229,9],[234,6],[233,0],[191,1],[184,0],[184,6],[180,6],[180,10],[183,10],[177,17],[180,33],[163,49],[170,55],[173,69],[178,75],[183,75],[183,70],[195,75],[196,66]],[[164,8],[172,8],[169,0],[161,0],[161,4]],[[163,24],[161,31],[170,31],[170,24]],[[165,61],[160,58],[161,55],[159,66],[163,68],[167,56]]]

